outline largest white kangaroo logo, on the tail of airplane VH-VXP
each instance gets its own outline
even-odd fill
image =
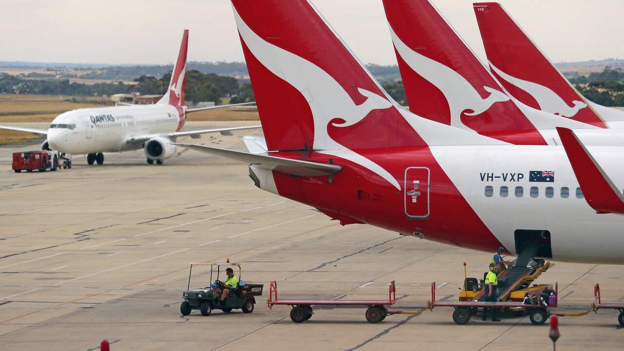
[[[253,56],[276,76],[295,87],[306,98],[314,118],[314,151],[338,156],[366,167],[378,174],[396,189],[401,185],[392,175],[375,162],[348,149],[329,137],[328,125],[333,119],[343,119],[343,123],[333,122],[335,127],[348,127],[361,121],[374,109],[387,109],[392,103],[384,97],[365,89],[358,92],[368,97],[356,105],[343,87],[333,77],[312,62],[266,42],[248,27],[234,8],[238,32]]]

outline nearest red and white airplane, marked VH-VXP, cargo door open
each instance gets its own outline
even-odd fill
[[[246,137],[250,152],[178,145],[245,162],[260,189],[341,224],[624,264],[623,147],[583,146],[570,129],[560,130],[569,150],[519,146],[417,116],[310,2],[232,4],[264,138]]]

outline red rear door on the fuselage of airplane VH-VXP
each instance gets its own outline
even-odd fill
[[[426,219],[429,217],[429,169],[407,167],[403,191],[407,218]]]

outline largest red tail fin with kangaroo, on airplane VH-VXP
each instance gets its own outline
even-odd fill
[[[268,151],[500,144],[394,102],[306,0],[233,0]]]

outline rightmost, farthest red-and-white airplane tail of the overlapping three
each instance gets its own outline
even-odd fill
[[[624,111],[583,97],[500,4],[473,5],[492,74],[515,99],[575,121],[622,129]]]

